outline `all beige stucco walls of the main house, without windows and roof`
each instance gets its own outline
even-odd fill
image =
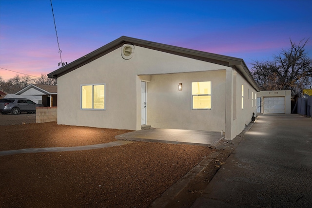
[[[140,130],[141,81],[147,82],[152,127],[225,131],[233,139],[250,122],[256,107],[240,109],[241,83],[245,90],[252,87],[235,69],[139,46],[125,60],[120,48],[58,78],[58,124]],[[212,82],[211,110],[191,109],[196,81]],[[82,84],[105,84],[105,110],[81,110]]]

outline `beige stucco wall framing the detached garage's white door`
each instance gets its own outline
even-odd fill
[[[275,90],[260,91],[257,97],[261,97],[261,112],[264,112],[264,97],[285,97],[285,113],[290,114],[292,111],[292,91],[291,90]]]

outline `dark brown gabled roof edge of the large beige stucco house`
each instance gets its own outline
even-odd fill
[[[50,74],[48,74],[48,77],[58,78],[59,76],[65,75],[99,57],[104,56],[105,54],[108,54],[109,52],[121,47],[125,43],[132,43],[133,45],[137,45],[140,47],[150,48],[153,50],[158,50],[158,51],[175,54],[175,55],[179,55],[183,57],[190,57],[190,58],[194,58],[194,59],[198,59],[202,61],[212,62],[212,63],[220,64],[223,66],[235,67],[257,91],[260,91],[258,85],[254,81],[254,78],[251,75],[244,60],[241,58],[212,54],[212,53],[207,53],[203,51],[181,48],[177,46],[166,45],[162,43],[156,43],[156,42],[137,39],[137,38],[129,38],[125,36],[122,36],[98,48],[97,50],[83,57],[80,57],[77,60],[59,68],[58,70],[51,72]]]

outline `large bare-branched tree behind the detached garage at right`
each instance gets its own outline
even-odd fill
[[[260,90],[292,90],[297,94],[311,86],[312,58],[305,50],[308,40],[296,44],[290,39],[291,48],[282,49],[272,61],[254,61],[251,72]]]

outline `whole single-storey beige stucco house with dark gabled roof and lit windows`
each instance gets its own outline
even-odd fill
[[[259,91],[243,59],[120,37],[48,74],[58,124],[225,132],[251,122]]]

